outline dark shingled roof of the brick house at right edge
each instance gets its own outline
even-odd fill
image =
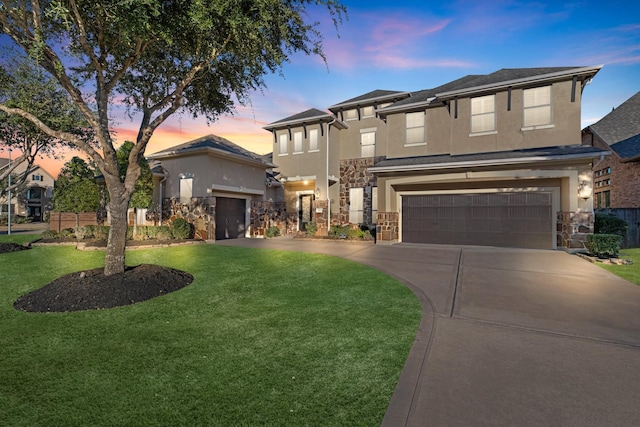
[[[589,128],[623,160],[640,156],[640,92]]]

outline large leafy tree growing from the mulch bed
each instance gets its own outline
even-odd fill
[[[153,132],[183,110],[215,120],[264,87],[294,52],[322,53],[310,8],[335,24],[339,0],[0,0],[4,34],[54,76],[95,132],[95,143],[0,104],[48,135],[83,150],[102,171],[111,228],[105,275],[124,271],[127,207]],[[324,56],[323,56],[324,57]],[[140,119],[124,176],[118,170],[111,102]]]

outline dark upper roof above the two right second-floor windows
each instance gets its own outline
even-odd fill
[[[433,89],[412,92],[409,98],[379,110],[379,114],[385,115],[392,111],[422,108],[432,104],[439,104],[443,100],[456,96],[480,94],[510,86],[521,87],[566,80],[574,75],[586,80],[592,78],[601,68],[602,65],[589,67],[503,68],[486,75],[471,74]]]

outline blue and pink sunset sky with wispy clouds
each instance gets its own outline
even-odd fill
[[[326,110],[372,90],[417,91],[501,68],[604,65],[583,92],[582,127],[640,91],[640,2],[344,0],[337,29],[326,9],[310,9],[324,36],[326,64],[295,54],[266,88],[233,116],[208,125],[176,115],[152,137],[147,154],[207,134],[249,150],[272,150],[267,124],[309,108]],[[139,121],[116,118],[120,142]],[[139,118],[138,118],[139,120]],[[0,156],[6,156],[0,151]],[[54,176],[62,161],[40,162]]]

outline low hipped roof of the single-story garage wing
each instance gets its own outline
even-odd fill
[[[193,141],[149,154],[146,157],[149,160],[160,160],[186,154],[196,154],[198,152],[209,152],[222,157],[232,157],[237,160],[259,164],[265,168],[274,167],[274,165],[265,162],[264,158],[259,154],[246,150],[228,139],[217,135],[206,135]]]

